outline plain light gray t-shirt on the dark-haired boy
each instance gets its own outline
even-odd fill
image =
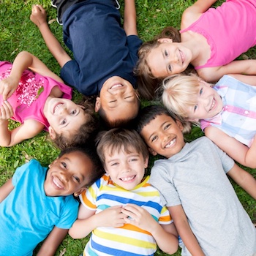
[[[234,161],[206,137],[186,143],[169,159],[159,159],[149,183],[167,206],[182,205],[207,256],[252,256],[256,230],[226,173]],[[183,246],[182,255],[190,255]]]

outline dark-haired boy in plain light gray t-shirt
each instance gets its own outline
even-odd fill
[[[153,155],[150,183],[162,193],[182,238],[182,255],[252,256],[256,230],[226,174],[256,199],[256,180],[208,138],[185,143],[181,121],[143,108],[138,132]]]

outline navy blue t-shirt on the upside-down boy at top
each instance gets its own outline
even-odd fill
[[[116,75],[135,87],[133,69],[142,41],[127,37],[113,0],[87,0],[69,7],[63,15],[64,42],[74,59],[61,69],[61,78],[84,95],[99,94]]]

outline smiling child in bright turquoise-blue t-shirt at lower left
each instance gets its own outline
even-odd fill
[[[54,255],[78,216],[78,197],[102,176],[90,148],[68,148],[49,165],[32,159],[0,187],[0,255]]]

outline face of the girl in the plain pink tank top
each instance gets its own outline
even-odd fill
[[[148,67],[155,78],[166,78],[169,75],[184,72],[191,61],[189,49],[172,39],[159,39],[161,44],[148,53]]]

